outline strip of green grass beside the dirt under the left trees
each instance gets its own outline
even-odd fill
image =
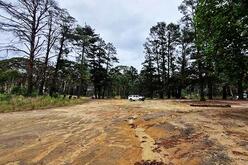
[[[24,97],[0,94],[0,113],[63,107],[83,104],[87,101],[89,101],[88,98],[68,99],[63,97]]]

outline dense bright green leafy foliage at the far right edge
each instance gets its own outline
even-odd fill
[[[247,13],[244,1],[199,0],[194,18],[206,73],[224,85],[236,85],[241,99],[248,70]]]

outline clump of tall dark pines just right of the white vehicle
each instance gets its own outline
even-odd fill
[[[177,69],[176,47],[179,40],[179,25],[158,22],[151,27],[144,44],[146,56],[141,78],[143,83],[153,82],[152,85],[143,85],[148,88],[143,91],[147,96],[153,97],[153,93],[157,91],[160,98],[163,98],[165,93],[170,98],[171,80]]]

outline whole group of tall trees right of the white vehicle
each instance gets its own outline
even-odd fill
[[[184,0],[179,24],[159,22],[144,44],[149,97],[238,96],[248,88],[248,3]]]

